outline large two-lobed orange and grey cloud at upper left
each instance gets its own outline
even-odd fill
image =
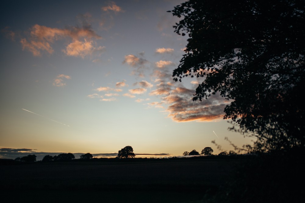
[[[62,51],[68,56],[84,58],[87,55],[101,54],[105,51],[105,47],[97,47],[93,42],[93,38],[101,39],[92,29],[90,25],[83,27],[70,27],[66,29],[51,28],[41,25],[34,25],[30,29],[30,40],[26,38],[20,40],[22,50],[32,52],[34,56],[41,56],[41,51],[48,54],[54,52],[51,44],[63,38],[71,39],[65,49]]]

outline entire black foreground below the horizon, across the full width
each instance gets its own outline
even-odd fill
[[[305,202],[303,156],[0,165],[2,202]]]

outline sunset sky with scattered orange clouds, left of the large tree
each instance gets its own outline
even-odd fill
[[[214,154],[250,138],[228,131],[221,96],[192,101],[203,78],[175,82],[188,36],[184,1],[7,1],[0,20],[0,158]],[[213,140],[221,149],[211,143]],[[16,153],[19,154],[16,154]],[[41,156],[42,156],[41,155]]]

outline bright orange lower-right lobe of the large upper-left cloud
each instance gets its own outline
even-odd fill
[[[95,43],[90,40],[87,41],[86,39],[82,42],[79,40],[74,40],[70,43],[65,50],[62,50],[67,56],[74,56],[74,57],[81,57],[85,58],[87,55],[92,54],[101,54],[105,51],[105,47],[99,46],[95,47]]]

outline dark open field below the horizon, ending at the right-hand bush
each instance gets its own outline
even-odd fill
[[[225,183],[240,162],[146,159],[2,165],[1,197],[11,202],[199,202]]]

